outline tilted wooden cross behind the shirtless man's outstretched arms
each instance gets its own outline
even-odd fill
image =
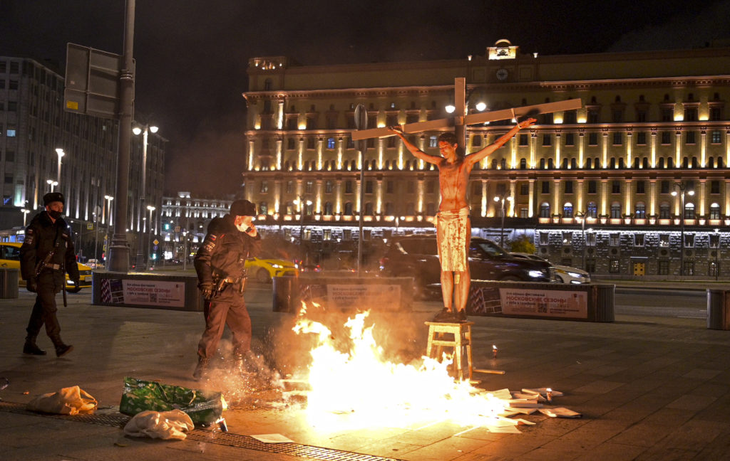
[[[443,130],[454,127],[458,145],[466,147],[466,125],[478,123],[496,122],[497,120],[517,119],[537,114],[550,114],[551,112],[572,111],[583,107],[580,99],[568,99],[555,103],[535,104],[534,106],[520,106],[513,109],[502,109],[500,111],[481,112],[479,114],[466,114],[466,79],[457,77],[454,79],[454,111],[453,118],[429,120],[428,122],[415,122],[401,125],[403,133],[420,133],[423,131]],[[369,130],[353,131],[353,141],[360,141],[368,138],[386,138],[393,136],[388,128],[372,128]]]

